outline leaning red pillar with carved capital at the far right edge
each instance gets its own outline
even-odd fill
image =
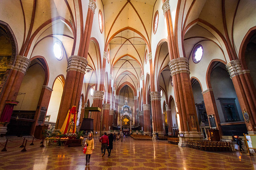
[[[242,111],[247,111],[249,121],[245,121],[248,134],[256,134],[253,125],[256,122],[256,97],[255,87],[251,83],[250,71],[242,70],[240,60],[232,60],[226,64],[226,68],[232,79],[236,95]]]

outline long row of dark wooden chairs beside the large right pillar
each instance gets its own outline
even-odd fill
[[[185,146],[204,151],[234,151],[233,143],[225,141],[185,140]]]

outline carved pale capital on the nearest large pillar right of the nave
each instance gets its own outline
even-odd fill
[[[169,67],[171,70],[171,76],[178,74],[178,73],[188,73],[189,72],[189,62],[188,59],[185,57],[179,57],[171,60],[169,62]]]

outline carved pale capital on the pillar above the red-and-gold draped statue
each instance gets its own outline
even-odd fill
[[[77,72],[85,74],[87,64],[88,61],[86,60],[86,58],[77,55],[72,55],[68,58],[67,72],[70,70],[75,70]]]

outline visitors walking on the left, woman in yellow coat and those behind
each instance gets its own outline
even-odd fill
[[[103,136],[100,137],[99,141],[101,142],[101,157],[105,156],[106,150],[108,151],[108,157],[111,154],[111,150],[113,149],[113,141],[119,141],[119,138],[121,137],[121,142],[123,141],[123,138],[125,137],[123,132],[118,133],[117,135],[114,133],[110,133],[109,136],[107,136],[107,133],[105,132]],[[127,136],[126,136],[127,137]],[[87,146],[87,150],[85,152],[86,154],[86,164],[90,163],[90,157],[92,154],[92,151],[94,150],[94,139],[93,139],[93,134],[89,133],[87,139],[85,140],[84,146]]]

